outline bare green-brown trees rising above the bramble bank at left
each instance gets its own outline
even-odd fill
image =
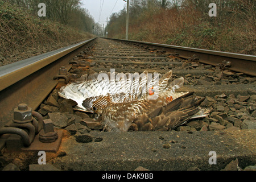
[[[7,0],[38,15],[39,3],[46,5],[46,19],[75,27],[81,31],[101,34],[88,10],[81,7],[81,0]],[[95,29],[93,29],[95,27]],[[98,29],[98,30],[97,30]]]

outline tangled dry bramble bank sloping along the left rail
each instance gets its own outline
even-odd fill
[[[86,32],[31,15],[31,11],[0,1],[0,55],[68,46],[92,38]]]

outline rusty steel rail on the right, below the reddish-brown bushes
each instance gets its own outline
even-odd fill
[[[222,64],[222,61],[230,61],[231,66],[226,68],[230,71],[245,73],[246,75],[256,76],[256,56],[243,55],[238,53],[211,51],[207,49],[189,48],[181,46],[170,46],[167,44],[141,42],[135,40],[112,39],[121,42],[137,43],[150,48],[158,48],[166,51],[167,53],[175,53],[181,58],[192,59],[196,58],[197,61],[204,64],[216,66]]]

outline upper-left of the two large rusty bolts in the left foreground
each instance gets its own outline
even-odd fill
[[[28,107],[27,104],[19,104],[14,109],[13,121],[15,123],[28,123],[32,121],[32,108]]]

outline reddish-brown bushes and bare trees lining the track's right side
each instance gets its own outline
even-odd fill
[[[217,16],[209,16],[209,4]],[[130,0],[129,39],[255,54],[255,0]],[[109,37],[125,38],[126,9],[109,18]]]

